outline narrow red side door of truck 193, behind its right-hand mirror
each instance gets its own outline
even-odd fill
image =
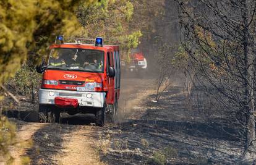
[[[108,81],[108,94],[106,98],[107,104],[113,104],[114,103],[114,77],[109,77],[109,66],[114,67],[114,62],[113,62],[113,53],[109,51],[107,53],[107,81]]]

